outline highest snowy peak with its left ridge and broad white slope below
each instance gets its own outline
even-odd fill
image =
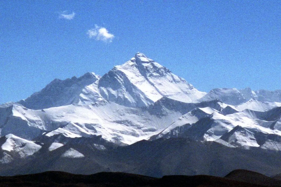
[[[204,94],[137,53],[102,77],[86,73],[80,78],[55,79],[27,99],[3,105],[9,112],[3,113],[1,136],[12,133],[31,140],[57,134],[72,138],[101,135],[106,141],[132,144],[194,109],[192,103]],[[162,107],[164,100],[178,106],[164,106],[157,112],[156,106]],[[161,117],[159,112],[164,112]]]

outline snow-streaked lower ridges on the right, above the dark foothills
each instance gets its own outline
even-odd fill
[[[198,111],[201,112],[198,113]],[[253,131],[263,134],[281,135],[280,130],[274,129],[273,123],[275,121],[270,121],[280,118],[278,108],[268,112],[257,112],[246,109],[245,111],[235,112],[226,116],[208,107],[204,111],[205,113],[202,113],[203,109],[194,109],[183,115],[157,136],[153,136],[152,139],[187,137],[195,140],[214,141],[223,136],[228,136],[228,133],[231,134],[233,132],[231,134],[234,137],[233,139],[237,138],[238,135],[238,138],[240,138],[239,141],[237,140],[238,143],[235,146],[258,147],[257,141],[253,140],[255,139],[254,133],[246,129],[253,129]],[[275,115],[271,116],[270,114],[272,113]],[[245,130],[243,131],[241,129]],[[268,139],[268,137],[263,139]],[[226,139],[223,140],[226,141]],[[226,142],[230,143],[229,141]],[[231,141],[230,144],[234,145],[234,141]]]

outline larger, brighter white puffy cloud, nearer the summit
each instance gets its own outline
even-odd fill
[[[98,25],[95,25],[95,28],[88,30],[87,35],[89,35],[89,38],[94,38],[104,42],[112,42],[112,39],[114,38],[114,35],[108,33],[106,28]]]

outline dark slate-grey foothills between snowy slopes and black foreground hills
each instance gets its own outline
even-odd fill
[[[45,147],[46,146],[46,147]],[[0,164],[0,175],[65,171],[73,174],[125,172],[151,177],[164,175],[213,175],[223,177],[235,169],[246,169],[267,176],[281,171],[280,151],[261,148],[237,149],[217,142],[184,138],[140,141],[135,144],[99,150],[90,142],[68,142],[51,152],[47,143],[33,157]],[[84,157],[63,157],[67,150]]]

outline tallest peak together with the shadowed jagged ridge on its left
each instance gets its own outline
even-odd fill
[[[29,109],[45,109],[69,104],[92,104],[101,100],[128,107],[143,107],[163,96],[197,102],[206,93],[195,89],[142,53],[104,76],[86,73],[66,80],[55,79],[41,91],[19,101]]]

